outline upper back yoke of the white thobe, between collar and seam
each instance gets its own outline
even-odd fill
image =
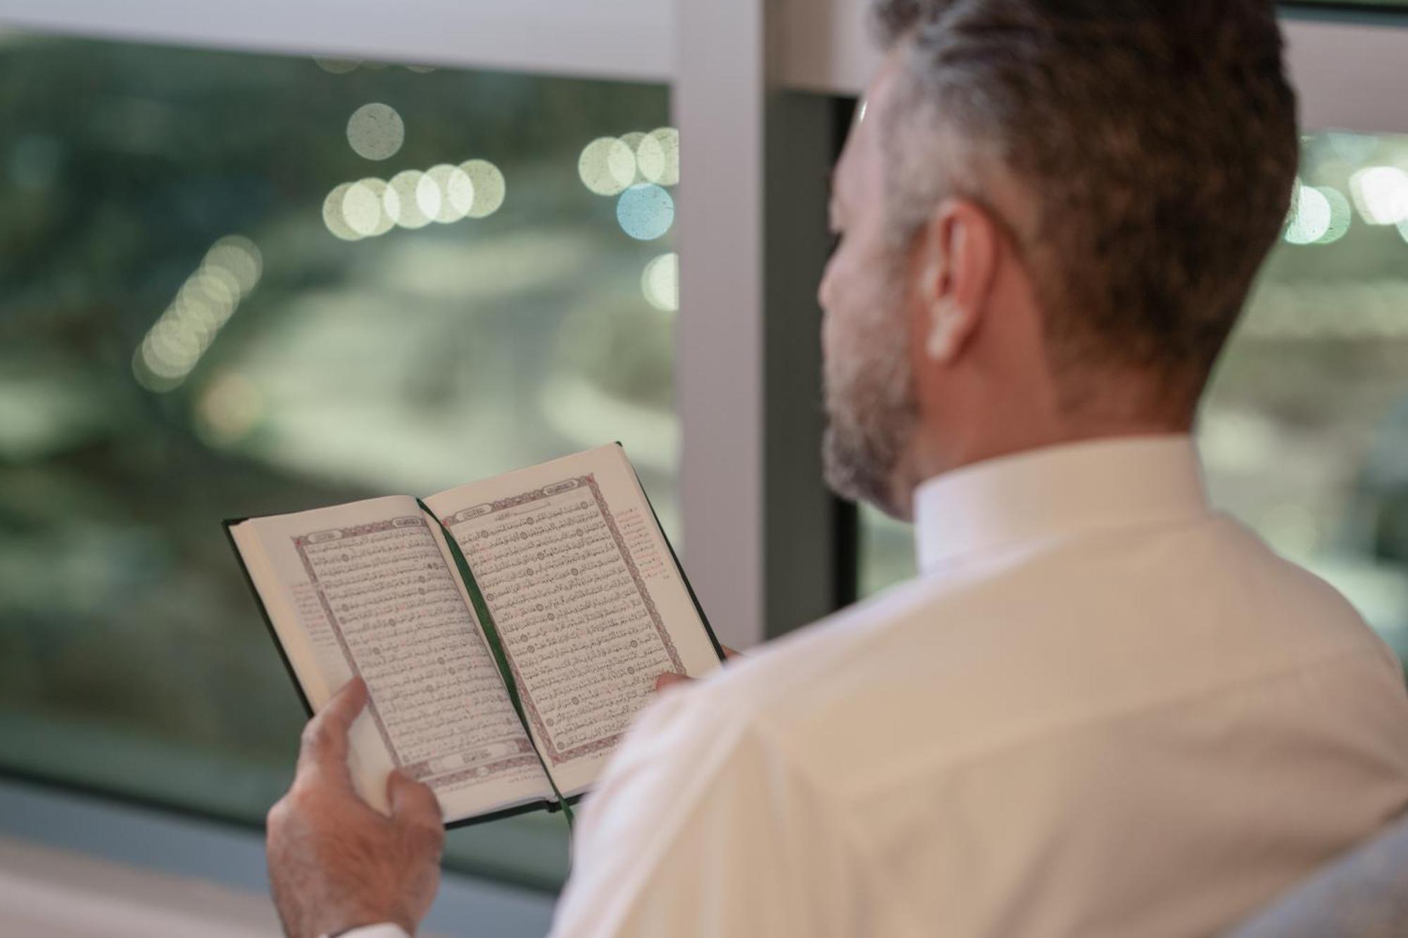
[[[1225,518],[912,580],[686,692],[773,758],[862,794],[995,739],[1388,652],[1332,587]],[[683,715],[683,714],[681,714]]]

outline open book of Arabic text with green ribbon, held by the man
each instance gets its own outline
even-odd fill
[[[448,824],[589,789],[666,672],[722,658],[620,445],[431,496],[227,521],[310,711],[353,675],[358,792]]]

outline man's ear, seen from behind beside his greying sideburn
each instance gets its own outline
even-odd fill
[[[998,228],[986,208],[945,199],[921,242],[919,297],[929,317],[924,351],[935,362],[957,359],[981,325],[998,262]]]

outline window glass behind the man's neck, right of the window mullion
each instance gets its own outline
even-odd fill
[[[1214,503],[1408,661],[1408,137],[1304,139],[1294,210],[1198,439]],[[862,513],[863,594],[914,575],[911,538]]]

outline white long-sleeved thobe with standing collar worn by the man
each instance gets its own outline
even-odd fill
[[[641,715],[555,937],[1205,935],[1408,806],[1398,661],[1209,510],[1187,437],[915,514],[917,580]]]

